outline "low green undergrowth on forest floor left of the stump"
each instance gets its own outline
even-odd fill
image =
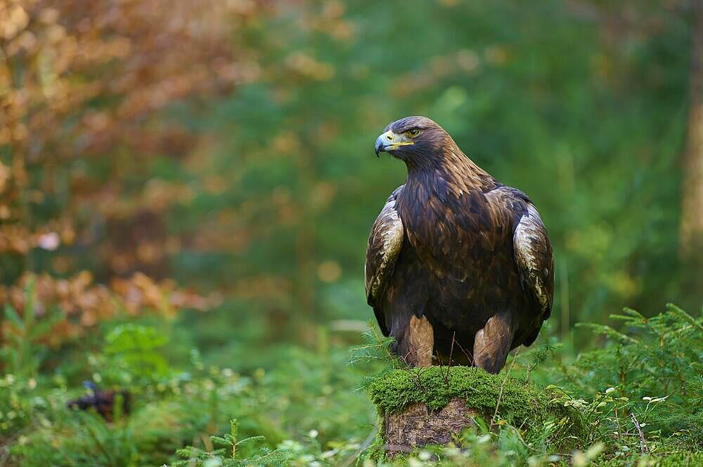
[[[190,452],[188,459],[210,465],[217,443],[231,441],[210,436],[237,416],[245,465],[275,465],[277,459],[307,465],[310,459],[354,456],[373,430],[373,409],[353,390],[356,376],[340,371],[346,368],[346,347],[280,348],[273,367],[248,376],[208,366],[197,352],[191,362],[174,367],[165,347],[170,333],[156,331],[168,324],[106,325],[101,351],[84,354],[89,373],[77,375],[77,381],[88,377],[98,386],[132,393],[131,413],[117,413],[110,423],[67,409],[67,400],[80,393],[67,388],[64,377],[44,375],[32,383],[11,375],[0,379],[0,423],[12,435],[6,439],[11,450],[0,451],[0,460],[10,456],[11,465],[29,467],[157,466],[175,462],[176,451],[191,445],[181,454]],[[165,371],[145,372],[155,368],[153,361],[165,362]]]

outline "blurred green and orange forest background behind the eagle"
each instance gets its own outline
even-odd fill
[[[0,371],[25,395],[91,379],[148,400],[172,367],[226,367],[276,396],[195,433],[251,412],[295,438],[325,430],[301,415],[318,407],[366,435],[373,408],[337,388],[372,317],[368,230],[405,177],[373,142],[408,114],[538,206],[543,332],[567,355],[593,345],[574,323],[623,306],[699,313],[702,36],[681,0],[3,0]],[[283,362],[321,373],[266,380]],[[0,408],[6,446],[54,423],[32,403]]]

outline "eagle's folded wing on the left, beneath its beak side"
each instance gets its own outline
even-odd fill
[[[388,335],[385,317],[380,309],[380,298],[385,293],[390,277],[393,275],[396,261],[403,247],[404,229],[398,211],[396,199],[405,185],[401,185],[390,195],[378,218],[373,223],[366,247],[366,264],[364,276],[366,301],[373,306],[376,320]]]

